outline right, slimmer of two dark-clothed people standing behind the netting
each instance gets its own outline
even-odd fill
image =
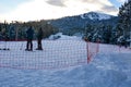
[[[40,27],[38,29],[38,33],[37,33],[37,48],[36,48],[36,50],[43,50],[43,45],[41,45],[43,36],[44,36],[44,32]]]

